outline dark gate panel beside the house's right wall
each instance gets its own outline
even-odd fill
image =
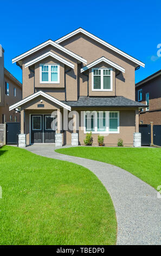
[[[141,146],[147,146],[151,144],[151,125],[140,124],[139,132],[141,133]]]

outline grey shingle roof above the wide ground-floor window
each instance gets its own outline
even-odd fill
[[[86,97],[80,96],[78,101],[62,101],[70,107],[146,107],[146,105],[127,99],[123,96],[115,97]]]

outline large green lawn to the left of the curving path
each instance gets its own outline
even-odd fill
[[[114,245],[111,197],[88,169],[0,149],[1,245]]]

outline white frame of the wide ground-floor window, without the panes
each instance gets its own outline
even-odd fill
[[[89,131],[86,131],[86,113],[94,113],[94,131],[92,131],[93,134],[107,134],[107,133],[120,133],[120,118],[119,118],[119,111],[84,111],[84,133],[88,133]],[[99,112],[105,112],[106,117],[106,131],[98,131],[97,126],[97,113]],[[118,131],[109,131],[110,127],[110,113],[118,113]]]

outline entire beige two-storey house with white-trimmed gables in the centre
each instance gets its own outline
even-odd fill
[[[135,71],[144,63],[82,28],[43,42],[12,63],[23,74],[23,100],[10,106],[21,111],[20,147],[83,145],[89,131],[93,145],[99,134],[105,145],[115,146],[119,138],[133,145],[144,107],[135,101]]]

